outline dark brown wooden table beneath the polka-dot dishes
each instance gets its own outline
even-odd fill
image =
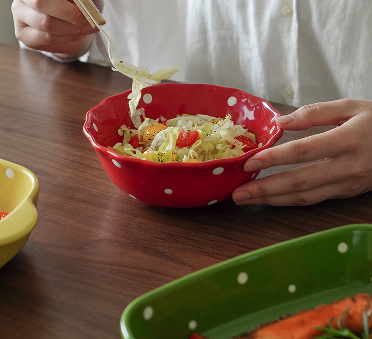
[[[230,200],[178,210],[131,199],[82,133],[85,113],[130,85],[107,68],[0,45],[0,158],[40,181],[37,226],[0,269],[0,338],[120,338],[124,308],[151,289],[264,246],[372,222],[372,192],[305,207]]]

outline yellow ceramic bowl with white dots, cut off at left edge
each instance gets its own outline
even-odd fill
[[[0,267],[26,244],[37,222],[37,177],[29,169],[0,159]]]

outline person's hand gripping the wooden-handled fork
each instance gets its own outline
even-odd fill
[[[94,0],[102,11],[103,0]],[[16,38],[27,47],[52,52],[60,58],[83,55],[92,41],[92,28],[71,0],[13,0]]]

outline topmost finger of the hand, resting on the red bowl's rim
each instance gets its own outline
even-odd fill
[[[275,121],[279,127],[287,130],[301,130],[312,126],[339,126],[357,113],[357,107],[357,102],[353,99],[318,102],[277,117]]]

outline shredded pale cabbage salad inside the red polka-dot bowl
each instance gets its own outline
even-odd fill
[[[121,126],[124,132],[123,142],[114,145],[114,149],[125,156],[157,162],[208,161],[231,158],[244,154],[245,144],[236,138],[244,136],[255,142],[255,135],[239,124],[234,124],[228,114],[224,119],[205,114],[183,114],[166,121],[166,129],[159,131],[153,140],[145,142],[144,130],[161,119],[145,117],[143,110],[136,110],[135,128]],[[142,119],[142,120],[141,120]],[[198,137],[186,147],[177,146],[181,131],[197,131]],[[130,139],[138,136],[139,147],[129,144]],[[261,144],[257,147],[262,146]]]

